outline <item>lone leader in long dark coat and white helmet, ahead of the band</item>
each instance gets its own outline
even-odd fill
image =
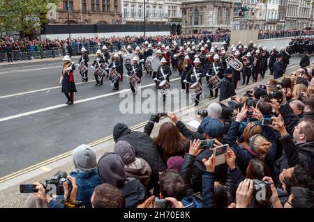
[[[77,93],[73,71],[75,70],[74,63],[70,63],[70,57],[64,56],[63,57],[63,68],[61,74],[61,81],[62,81],[62,93],[66,95],[68,102],[66,104],[71,105],[74,103],[74,92]]]

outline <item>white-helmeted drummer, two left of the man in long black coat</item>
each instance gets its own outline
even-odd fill
[[[190,84],[195,84],[195,82],[199,82],[202,85],[202,77],[205,76],[205,70],[202,68],[200,58],[195,58],[194,60],[194,67],[190,69],[188,74],[186,74],[186,82]],[[195,106],[197,106],[200,103],[200,94],[197,94],[195,96]]]

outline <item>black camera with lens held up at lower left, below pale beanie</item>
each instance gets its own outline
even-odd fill
[[[50,179],[46,180],[46,193],[52,192],[55,195],[63,195],[63,183],[68,182],[68,190],[72,190],[72,182],[67,178],[68,174],[63,171],[57,172]]]

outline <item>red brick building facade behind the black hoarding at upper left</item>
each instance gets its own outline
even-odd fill
[[[57,19],[50,24],[121,24],[120,0],[65,0],[58,5]]]

